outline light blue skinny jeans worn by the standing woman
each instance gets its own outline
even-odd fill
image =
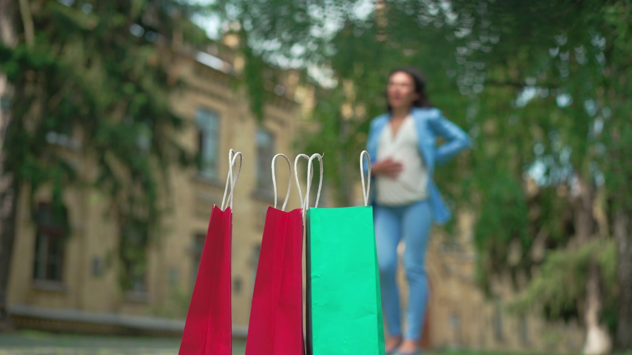
[[[396,283],[397,246],[406,243],[404,268],[408,279],[408,308],[404,339],[417,340],[422,334],[423,318],[428,301],[428,277],[425,256],[432,226],[430,203],[427,200],[412,205],[374,206],[375,241],[380,269],[382,308],[388,333],[401,335],[401,308]]]

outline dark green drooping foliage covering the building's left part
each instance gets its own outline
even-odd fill
[[[0,69],[16,88],[6,169],[31,198],[51,186],[57,207],[70,184],[107,191],[121,228],[137,231],[121,232],[128,287],[159,231],[167,167],[191,161],[175,140],[184,121],[169,95],[182,84],[169,73],[169,45],[206,38],[188,20],[193,9],[175,1],[70,4],[46,1],[32,13],[32,47],[0,47]],[[87,174],[93,166],[96,176]]]

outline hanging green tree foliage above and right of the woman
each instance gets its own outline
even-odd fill
[[[346,166],[355,165],[351,156],[363,148],[370,119],[384,112],[389,72],[413,65],[427,73],[431,102],[473,140],[474,149],[435,179],[454,207],[477,213],[485,289],[492,275],[529,277],[542,262],[563,263],[557,258],[574,237],[577,179],[592,193],[607,191],[607,215],[632,211],[632,104],[623,95],[632,81],[621,74],[629,73],[632,55],[629,1],[386,1],[367,16],[358,15],[356,1],[217,6],[240,21],[246,46],[265,63],[331,69],[334,88],[317,90],[310,138],[300,143],[309,152],[335,152],[324,164],[339,203],[350,202],[356,175]],[[325,18],[329,31],[322,30]],[[525,178],[536,181],[534,195]],[[537,238],[544,260],[529,256]],[[513,244],[520,255],[510,262]],[[553,256],[557,250],[562,256]],[[601,270],[602,278],[611,275]],[[578,314],[576,304],[557,307],[549,314]]]

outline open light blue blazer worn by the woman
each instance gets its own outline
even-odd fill
[[[433,217],[435,222],[443,224],[450,219],[451,213],[432,178],[435,165],[447,162],[458,152],[469,147],[470,137],[459,126],[448,121],[439,109],[413,107],[411,114],[419,137],[419,152],[422,154],[423,162],[428,169],[428,198]],[[367,137],[367,152],[372,163],[377,160],[379,137],[390,118],[390,114],[382,114],[371,122]],[[437,146],[437,136],[444,138],[446,143]],[[365,171],[367,171],[366,165],[365,162]],[[371,204],[374,204],[375,189],[371,193]]]

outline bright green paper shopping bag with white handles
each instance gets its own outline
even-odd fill
[[[368,206],[370,181],[365,190],[362,164],[365,155],[368,159],[367,152],[360,155],[364,207],[307,210],[308,355],[384,355],[373,208]],[[322,174],[322,161],[320,169]]]

